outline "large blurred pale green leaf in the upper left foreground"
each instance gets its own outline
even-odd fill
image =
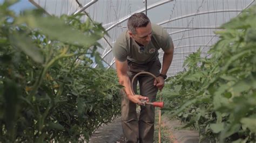
[[[70,42],[75,45],[90,47],[103,37],[93,33],[83,33],[66,25],[63,20],[56,17],[42,17],[26,15],[17,19],[18,24],[26,23],[31,28],[39,28],[41,32],[53,40]]]

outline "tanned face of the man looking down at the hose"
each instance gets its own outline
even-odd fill
[[[146,27],[136,28],[136,34],[132,34],[131,32],[129,32],[129,34],[130,34],[130,37],[133,38],[135,41],[139,42],[139,44],[146,46],[151,41],[151,35],[152,35],[151,23],[147,24]]]

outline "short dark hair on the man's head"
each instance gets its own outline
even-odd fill
[[[127,22],[127,27],[130,32],[136,34],[137,27],[146,27],[150,23],[150,19],[144,13],[134,13]]]

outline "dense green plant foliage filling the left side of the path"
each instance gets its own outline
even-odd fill
[[[104,28],[82,15],[17,17],[13,3],[0,5],[0,142],[88,140],[120,113],[114,71],[91,68]]]

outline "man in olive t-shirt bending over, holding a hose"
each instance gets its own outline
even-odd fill
[[[127,142],[153,142],[154,107],[141,105],[140,99],[156,101],[158,89],[163,89],[167,70],[173,57],[173,42],[164,28],[151,24],[144,13],[135,13],[127,22],[128,31],[116,40],[112,51],[116,61],[119,83],[124,86],[122,97],[122,127]],[[158,49],[163,49],[163,67],[158,59]],[[161,69],[161,73],[159,70]],[[151,75],[138,76],[133,83],[140,95],[131,91],[131,80],[140,71],[149,71],[157,76],[157,82]],[[143,96],[142,96],[143,95]],[[136,104],[140,106],[139,121]]]

